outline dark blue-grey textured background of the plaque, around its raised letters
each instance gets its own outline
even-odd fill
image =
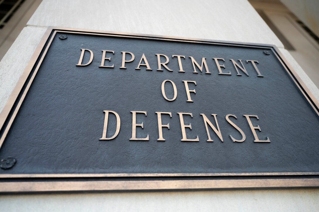
[[[270,47],[63,34],[68,39],[61,40],[60,34],[55,34],[0,149],[0,158],[12,156],[19,163],[0,170],[0,174],[319,171],[318,116]],[[93,62],[76,67],[81,48],[93,51]],[[102,50],[115,51],[109,63],[115,65],[114,69],[99,68]],[[264,50],[271,54],[265,55]],[[134,62],[126,63],[127,69],[119,69],[121,51],[136,56]],[[135,69],[143,53],[152,71]],[[178,73],[176,58],[168,63],[173,72],[156,71],[155,54],[185,55],[185,73]],[[211,75],[194,74],[188,56],[197,61],[206,57]],[[232,76],[218,75],[213,57],[225,58],[224,72],[231,71]],[[249,77],[243,73],[236,76],[229,59],[259,61],[264,77],[257,77],[251,64],[244,64]],[[161,95],[160,87],[166,79],[178,89],[172,102]],[[186,102],[182,80],[197,82],[194,102]],[[120,133],[110,141],[99,141],[103,110],[116,111],[121,117]],[[137,123],[143,121],[145,126],[137,128],[137,135],[148,134],[149,141],[129,141],[130,111],[147,111],[147,117],[137,116]],[[165,142],[157,141],[157,111],[172,113],[172,118],[163,116],[163,121],[170,123],[170,130],[163,128]],[[184,118],[185,123],[192,124],[187,135],[198,135],[199,142],[181,142],[178,112],[193,113],[192,119]],[[217,114],[223,143],[212,131],[214,142],[206,142],[200,113],[211,121],[210,114]],[[226,122],[227,114],[237,116],[234,122],[247,136],[243,143],[233,143],[229,137],[239,138],[240,134]],[[258,137],[269,137],[271,143],[253,142],[243,114],[258,115],[259,121],[253,120],[262,129]],[[8,120],[1,129],[2,136]],[[108,130],[114,134],[114,125]]]

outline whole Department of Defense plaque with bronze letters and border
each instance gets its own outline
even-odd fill
[[[318,186],[274,46],[50,28],[1,113],[0,191]]]

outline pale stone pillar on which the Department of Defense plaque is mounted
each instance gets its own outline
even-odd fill
[[[276,45],[319,90],[247,0],[44,0],[0,62],[0,111],[48,26]],[[316,211],[319,189],[1,195],[0,211]]]

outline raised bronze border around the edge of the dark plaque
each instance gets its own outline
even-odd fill
[[[40,68],[41,62],[46,55],[50,44],[56,33],[78,33],[91,34],[100,36],[116,36],[116,37],[134,37],[152,40],[173,40],[180,42],[207,43],[215,45],[231,45],[250,48],[267,48],[271,50],[277,59],[286,69],[293,82],[300,89],[300,92],[307,99],[308,103],[313,107],[319,116],[319,102],[313,94],[308,90],[300,77],[274,45],[241,43],[230,41],[203,40],[181,37],[169,37],[158,35],[132,34],[132,33],[116,33],[104,32],[96,30],[82,30],[64,27],[48,27],[46,33],[36,48],[30,62],[22,73],[17,85],[11,93],[8,102],[0,113],[0,129],[4,128],[4,133],[0,138],[0,148],[11,127],[11,124],[19,111],[28,89]],[[48,40],[50,38],[50,40]],[[44,46],[48,42],[46,48]],[[43,54],[41,55],[41,52]],[[41,55],[41,58],[40,58]],[[36,62],[39,63],[35,67]],[[18,99],[26,80],[29,78],[31,71],[35,68],[30,81],[26,85],[21,97]],[[18,101],[18,102],[17,102]],[[17,106],[13,108],[17,102]],[[11,110],[14,109],[9,117]],[[8,119],[8,124],[4,126]],[[257,176],[261,179],[254,179]],[[172,179],[176,178],[177,179]],[[182,179],[184,177],[192,179]],[[200,179],[205,177],[205,179]],[[220,179],[227,177],[230,179]],[[57,191],[114,191],[114,190],[175,190],[175,189],[229,189],[229,188],[281,188],[281,187],[319,187],[319,172],[266,172],[266,173],[108,173],[108,174],[0,174],[0,193],[11,192],[57,192]],[[81,180],[74,181],[75,178]],[[103,178],[103,180],[96,180]],[[110,178],[118,178],[120,180],[112,180]],[[124,178],[124,179],[122,179]],[[135,180],[131,180],[134,179]],[[142,180],[140,180],[142,178]],[[145,179],[143,179],[145,178]],[[163,179],[151,179],[163,178]],[[166,179],[165,179],[166,178]],[[209,178],[209,179],[207,179]],[[243,178],[243,179],[238,179]],[[39,181],[45,179],[45,181]],[[56,180],[58,179],[58,180]],[[82,180],[85,179],[85,180]],[[9,182],[8,182],[9,180]]]

